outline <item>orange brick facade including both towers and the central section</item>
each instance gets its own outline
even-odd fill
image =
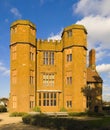
[[[42,112],[85,111],[85,27],[64,28],[60,41],[37,39],[36,27],[28,20],[13,22],[10,31],[10,112],[29,112],[35,106]]]

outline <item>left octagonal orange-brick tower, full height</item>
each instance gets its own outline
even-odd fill
[[[36,27],[17,20],[10,27],[10,112],[28,112],[35,106]]]

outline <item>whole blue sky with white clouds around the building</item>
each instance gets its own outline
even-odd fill
[[[62,29],[83,24],[88,51],[96,49],[97,71],[103,78],[103,100],[110,101],[110,0],[0,0],[0,97],[9,97],[10,25],[28,19],[37,38],[60,39]]]

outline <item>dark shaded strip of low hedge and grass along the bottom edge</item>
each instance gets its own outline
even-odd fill
[[[46,115],[28,115],[23,117],[23,122],[51,130],[110,130],[110,117],[102,117],[95,120],[78,120]]]

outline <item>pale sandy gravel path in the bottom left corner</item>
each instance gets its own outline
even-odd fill
[[[26,125],[21,117],[9,117],[9,113],[0,113],[0,130],[50,130]]]

